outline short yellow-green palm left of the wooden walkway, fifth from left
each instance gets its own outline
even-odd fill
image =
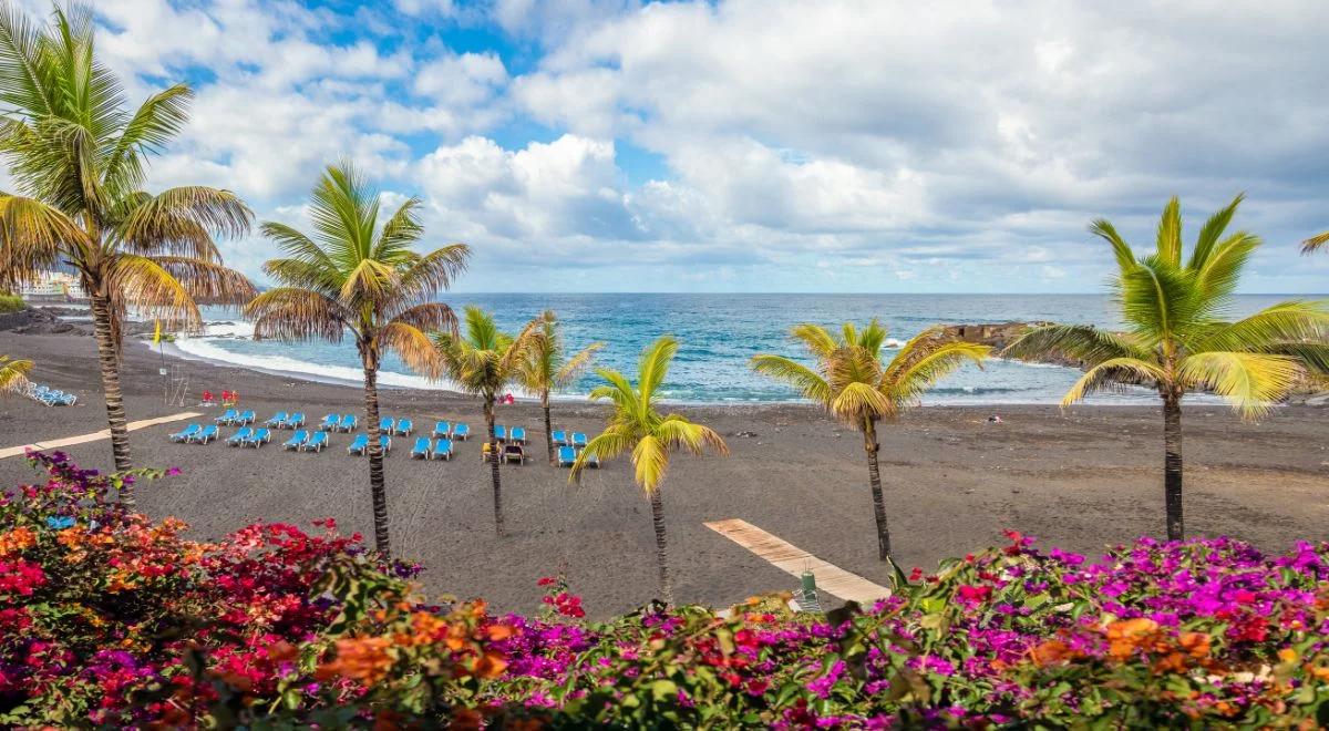
[[[710,427],[694,424],[676,413],[661,415],[657,403],[661,384],[668,373],[678,340],[661,338],[642,351],[637,368],[637,387],[622,373],[610,368],[597,368],[595,373],[605,379],[605,385],[590,392],[591,401],[610,401],[614,411],[599,436],[590,440],[573,463],[569,480],[579,478],[590,456],[610,460],[623,452],[633,452],[633,467],[637,470],[637,485],[646,490],[651,501],[651,525],[655,528],[655,568],[659,572],[659,593],[666,605],[674,603],[674,586],[668,575],[668,544],[664,534],[664,502],[661,486],[668,472],[670,455],[687,449],[700,455],[711,447],[720,455],[728,455],[730,448]]]

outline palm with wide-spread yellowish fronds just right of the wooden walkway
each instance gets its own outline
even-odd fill
[[[793,385],[863,433],[872,512],[877,521],[877,558],[889,561],[890,530],[877,464],[877,452],[881,451],[877,423],[894,420],[964,363],[982,367],[991,348],[954,340],[940,327],[932,327],[905,343],[890,363],[882,364],[881,346],[886,331],[874,319],[861,331],[853,323],[844,323],[837,336],[812,323],[795,326],[789,334],[816,360],[815,369],[779,355],[752,358],[752,369]]]

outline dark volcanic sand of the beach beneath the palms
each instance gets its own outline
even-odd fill
[[[35,379],[74,391],[80,404],[47,408],[0,399],[0,448],[105,428],[90,338],[0,332],[0,354],[37,362]],[[124,387],[129,419],[187,411],[163,407],[157,354],[126,343]],[[302,409],[361,412],[359,388],[251,371],[187,364],[191,391],[239,388],[242,405],[267,419]],[[385,415],[429,429],[436,419],[484,428],[478,405],[461,396],[384,389]],[[193,408],[193,407],[190,407]],[[1005,424],[986,424],[991,411]],[[211,417],[217,409],[206,411]],[[671,569],[679,601],[723,606],[754,593],[792,589],[796,579],[711,532],[704,521],[743,518],[869,579],[885,582],[876,560],[867,465],[860,437],[799,405],[680,408],[726,435],[732,455],[678,456],[664,482]],[[502,407],[501,423],[525,425],[537,460],[505,467],[510,536],[493,532],[488,470],[480,440],[459,444],[452,463],[408,459],[399,439],[387,459],[395,550],[421,561],[427,589],[482,595],[497,610],[532,611],[536,579],[565,566],[595,615],[634,609],[653,597],[650,509],[627,460],[589,470],[582,485],[544,461],[540,409]],[[556,428],[594,435],[601,409],[556,405]],[[1296,540],[1325,540],[1329,525],[1329,409],[1288,407],[1257,424],[1224,408],[1185,412],[1185,510],[1195,534],[1229,534],[1281,552]],[[367,461],[350,457],[346,435],[322,455],[170,444],[186,421],[133,432],[136,464],[183,469],[141,490],[154,517],[177,516],[197,536],[218,537],[251,521],[308,526],[332,516],[347,530],[371,533]],[[1162,417],[1152,408],[924,408],[884,429],[882,477],[892,537],[908,569],[930,568],[1002,542],[1015,528],[1045,545],[1098,552],[1163,530]],[[755,437],[732,436],[756,432]],[[223,431],[226,433],[226,431]],[[286,439],[288,432],[278,432]],[[68,449],[82,465],[110,467],[110,444]],[[0,484],[31,481],[21,457],[0,460]]]

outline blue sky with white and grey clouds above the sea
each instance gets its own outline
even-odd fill
[[[33,13],[49,4],[19,0]],[[304,223],[354,161],[461,292],[1092,292],[1235,194],[1247,292],[1326,292],[1329,3],[97,0],[141,100],[197,92],[150,183]],[[263,282],[256,234],[225,242]]]

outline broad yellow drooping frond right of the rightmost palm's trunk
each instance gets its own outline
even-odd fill
[[[1187,387],[1213,391],[1247,419],[1267,412],[1304,373],[1294,358],[1251,352],[1201,352],[1177,367]]]

